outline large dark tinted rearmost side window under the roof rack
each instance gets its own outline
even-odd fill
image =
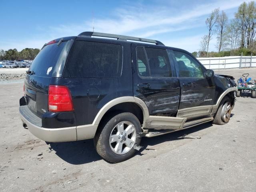
[[[123,49],[118,44],[76,41],[63,77],[120,77]]]

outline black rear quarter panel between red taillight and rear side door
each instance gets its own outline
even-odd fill
[[[51,78],[50,84],[67,86],[71,92],[76,126],[92,124],[100,109],[109,101],[133,96],[130,44],[123,46],[122,74],[118,78]]]

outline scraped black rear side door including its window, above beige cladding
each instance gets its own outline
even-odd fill
[[[165,48],[132,44],[134,96],[142,99],[153,116],[176,116],[180,85]]]

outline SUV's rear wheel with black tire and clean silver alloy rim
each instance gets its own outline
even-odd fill
[[[94,137],[94,146],[98,154],[113,163],[131,158],[134,145],[140,145],[141,124],[132,113],[120,113],[105,120]]]

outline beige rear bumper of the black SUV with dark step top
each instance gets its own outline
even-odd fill
[[[20,106],[19,114],[28,130],[46,142],[67,142],[94,138],[98,127],[90,124],[65,128],[43,128],[42,119],[33,114],[26,105]]]

